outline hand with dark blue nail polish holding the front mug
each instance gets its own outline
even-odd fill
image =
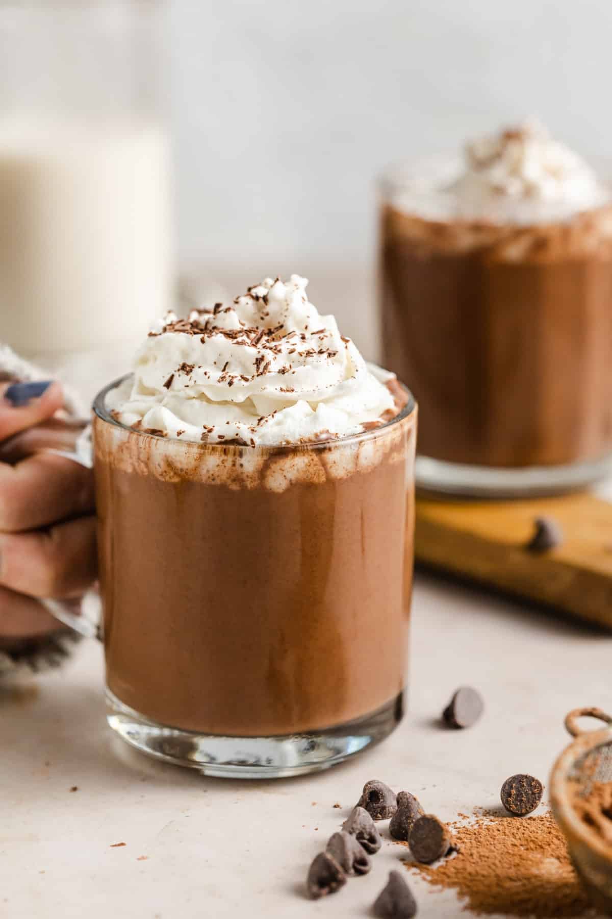
[[[41,391],[44,384],[38,385]],[[28,390],[26,387],[30,387]],[[0,384],[0,443],[61,409],[61,385]],[[17,403],[17,404],[16,404]],[[0,644],[59,627],[37,597],[80,596],[96,576],[92,471],[40,451],[0,461]]]

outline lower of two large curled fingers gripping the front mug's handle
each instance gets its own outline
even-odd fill
[[[28,596],[78,596],[95,581],[95,517],[0,534],[0,584]]]

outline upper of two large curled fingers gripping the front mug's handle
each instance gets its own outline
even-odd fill
[[[37,453],[17,466],[0,463],[0,530],[47,527],[94,509],[90,469],[53,453]]]

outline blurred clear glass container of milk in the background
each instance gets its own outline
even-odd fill
[[[162,12],[0,0],[0,341],[52,370],[118,366],[171,305]]]

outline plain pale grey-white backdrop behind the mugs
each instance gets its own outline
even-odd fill
[[[389,161],[530,114],[612,153],[610,0],[171,4],[179,254],[220,278],[296,270],[331,311],[317,275],[370,283]]]

